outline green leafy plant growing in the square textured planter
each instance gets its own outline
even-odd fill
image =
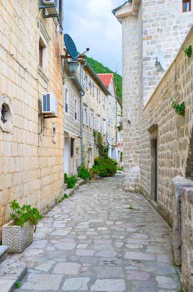
[[[23,205],[20,207],[16,200],[10,202],[10,207],[13,210],[10,217],[14,220],[15,225],[23,226],[25,222],[29,222],[34,226],[33,231],[36,232],[38,220],[42,218],[36,208],[32,208],[31,205]]]

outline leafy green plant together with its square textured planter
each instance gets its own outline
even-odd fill
[[[2,226],[2,244],[8,245],[8,253],[22,253],[33,241],[38,220],[42,218],[36,208],[31,205],[19,206],[16,200],[10,203],[13,210],[10,222]]]

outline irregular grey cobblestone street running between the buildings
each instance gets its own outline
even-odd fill
[[[128,209],[132,205],[133,209]],[[16,292],[178,292],[171,229],[122,176],[84,184],[38,225]]]

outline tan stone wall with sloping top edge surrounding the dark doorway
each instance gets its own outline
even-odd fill
[[[193,28],[184,41],[193,45]],[[182,49],[163,76],[151,96],[140,121],[140,173],[141,192],[153,200],[151,193],[151,135],[148,131],[157,125],[158,129],[158,199],[157,208],[169,224],[173,221],[174,177],[185,176],[191,135],[193,129],[193,58],[185,56]],[[178,116],[171,106],[167,93],[177,103],[185,102],[185,116]]]

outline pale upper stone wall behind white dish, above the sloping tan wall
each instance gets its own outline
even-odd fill
[[[158,86],[163,72],[155,67],[157,48],[169,66],[193,23],[193,11],[182,13],[181,0],[141,0],[143,15],[144,105]]]

